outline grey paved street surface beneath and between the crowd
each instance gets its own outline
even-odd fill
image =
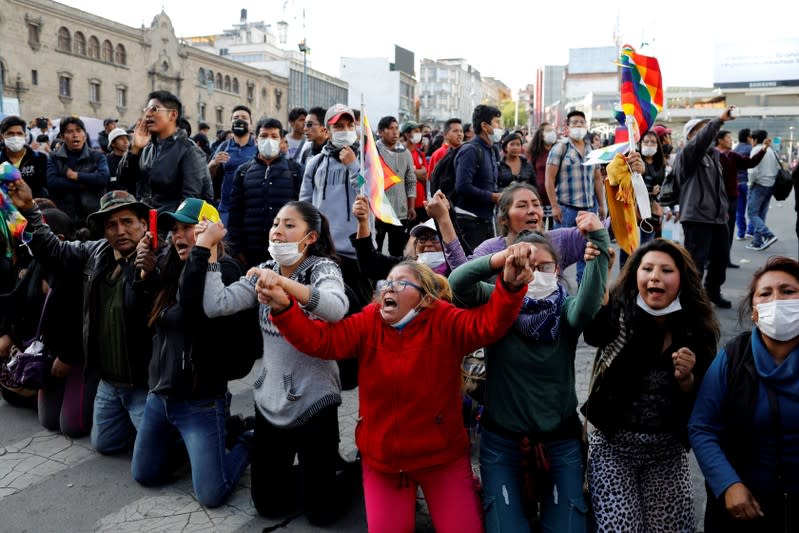
[[[754,270],[771,255],[796,257],[793,198],[773,202],[768,216],[780,238],[765,252],[746,250],[735,241],[733,261],[739,269],[727,271],[724,295],[737,302]],[[741,331],[736,309],[719,310],[722,342]],[[743,326],[747,327],[747,326]],[[584,344],[577,353],[577,391],[581,401],[588,389],[593,350]],[[252,412],[250,381],[231,383],[233,411]],[[345,393],[339,410],[345,456],[355,454],[353,431],[357,416],[357,391]],[[17,409],[0,400],[0,531],[317,531],[304,517],[265,520],[257,516],[249,495],[249,478],[242,479],[230,501],[218,509],[204,509],[194,498],[188,472],[172,485],[148,489],[130,477],[130,457],[101,457],[88,438],[72,441],[42,430],[35,413]],[[701,511],[704,488],[694,466],[697,509]],[[420,502],[420,507],[423,507]],[[423,512],[420,531],[431,531]],[[701,521],[700,521],[701,524]],[[330,532],[365,531],[363,501]]]

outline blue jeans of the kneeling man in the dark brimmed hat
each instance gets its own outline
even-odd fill
[[[92,417],[94,449],[106,455],[129,449],[141,424],[146,399],[145,389],[118,387],[101,379]]]

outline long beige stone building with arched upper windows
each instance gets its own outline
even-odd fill
[[[161,89],[180,98],[195,131],[200,121],[229,128],[237,104],[254,119],[288,117],[288,79],[181,42],[163,11],[133,28],[56,2],[0,0],[0,34],[4,101],[26,119],[113,117],[127,126]]]

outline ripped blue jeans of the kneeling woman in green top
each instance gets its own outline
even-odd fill
[[[544,443],[550,461],[551,490],[541,502],[542,532],[586,532],[588,506],[583,493],[583,454],[577,439]],[[480,439],[480,476],[487,533],[529,531],[522,499],[519,441],[486,428]]]

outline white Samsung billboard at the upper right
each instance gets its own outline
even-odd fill
[[[714,87],[799,86],[799,39],[716,44]]]

